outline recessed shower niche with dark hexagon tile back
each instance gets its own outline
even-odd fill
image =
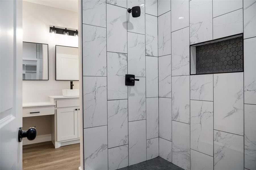
[[[243,34],[190,45],[190,75],[244,71]]]

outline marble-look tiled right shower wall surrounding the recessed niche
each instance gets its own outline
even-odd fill
[[[244,72],[190,75],[190,44],[239,33]],[[158,0],[159,156],[186,170],[256,169],[255,47],[255,0]]]

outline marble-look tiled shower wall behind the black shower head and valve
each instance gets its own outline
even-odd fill
[[[157,12],[157,1],[82,0],[84,169],[159,156],[158,52],[170,48],[158,51]],[[139,81],[125,86],[125,74]]]

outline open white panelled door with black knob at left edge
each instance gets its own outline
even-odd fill
[[[0,0],[0,169],[22,169],[22,1]]]

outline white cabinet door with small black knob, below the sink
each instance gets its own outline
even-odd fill
[[[78,108],[57,109],[57,141],[78,138]]]

